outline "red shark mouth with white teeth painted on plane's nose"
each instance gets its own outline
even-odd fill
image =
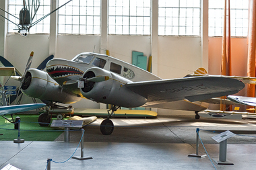
[[[83,75],[84,72],[75,67],[55,65],[46,69],[47,73],[53,78],[67,77],[71,75]]]

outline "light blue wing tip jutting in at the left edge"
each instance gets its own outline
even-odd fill
[[[0,107],[0,116],[5,114],[15,114],[20,112],[26,112],[29,110],[34,110],[37,108],[44,107],[43,103],[34,103],[34,104],[23,104],[23,105],[6,105]]]

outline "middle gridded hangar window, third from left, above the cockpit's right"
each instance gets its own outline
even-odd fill
[[[150,35],[150,0],[109,0],[108,34]]]

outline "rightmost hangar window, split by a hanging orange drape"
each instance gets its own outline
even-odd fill
[[[223,36],[224,0],[209,0],[209,36]],[[230,34],[247,36],[249,0],[230,1]]]

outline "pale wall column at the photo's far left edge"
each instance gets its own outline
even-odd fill
[[[1,9],[4,9],[7,11],[7,0],[1,0],[0,1],[0,7]],[[0,14],[7,17],[7,13],[4,11],[0,11]],[[7,34],[7,20],[3,17],[0,17],[0,56],[3,56],[6,58],[5,54],[5,39]]]

